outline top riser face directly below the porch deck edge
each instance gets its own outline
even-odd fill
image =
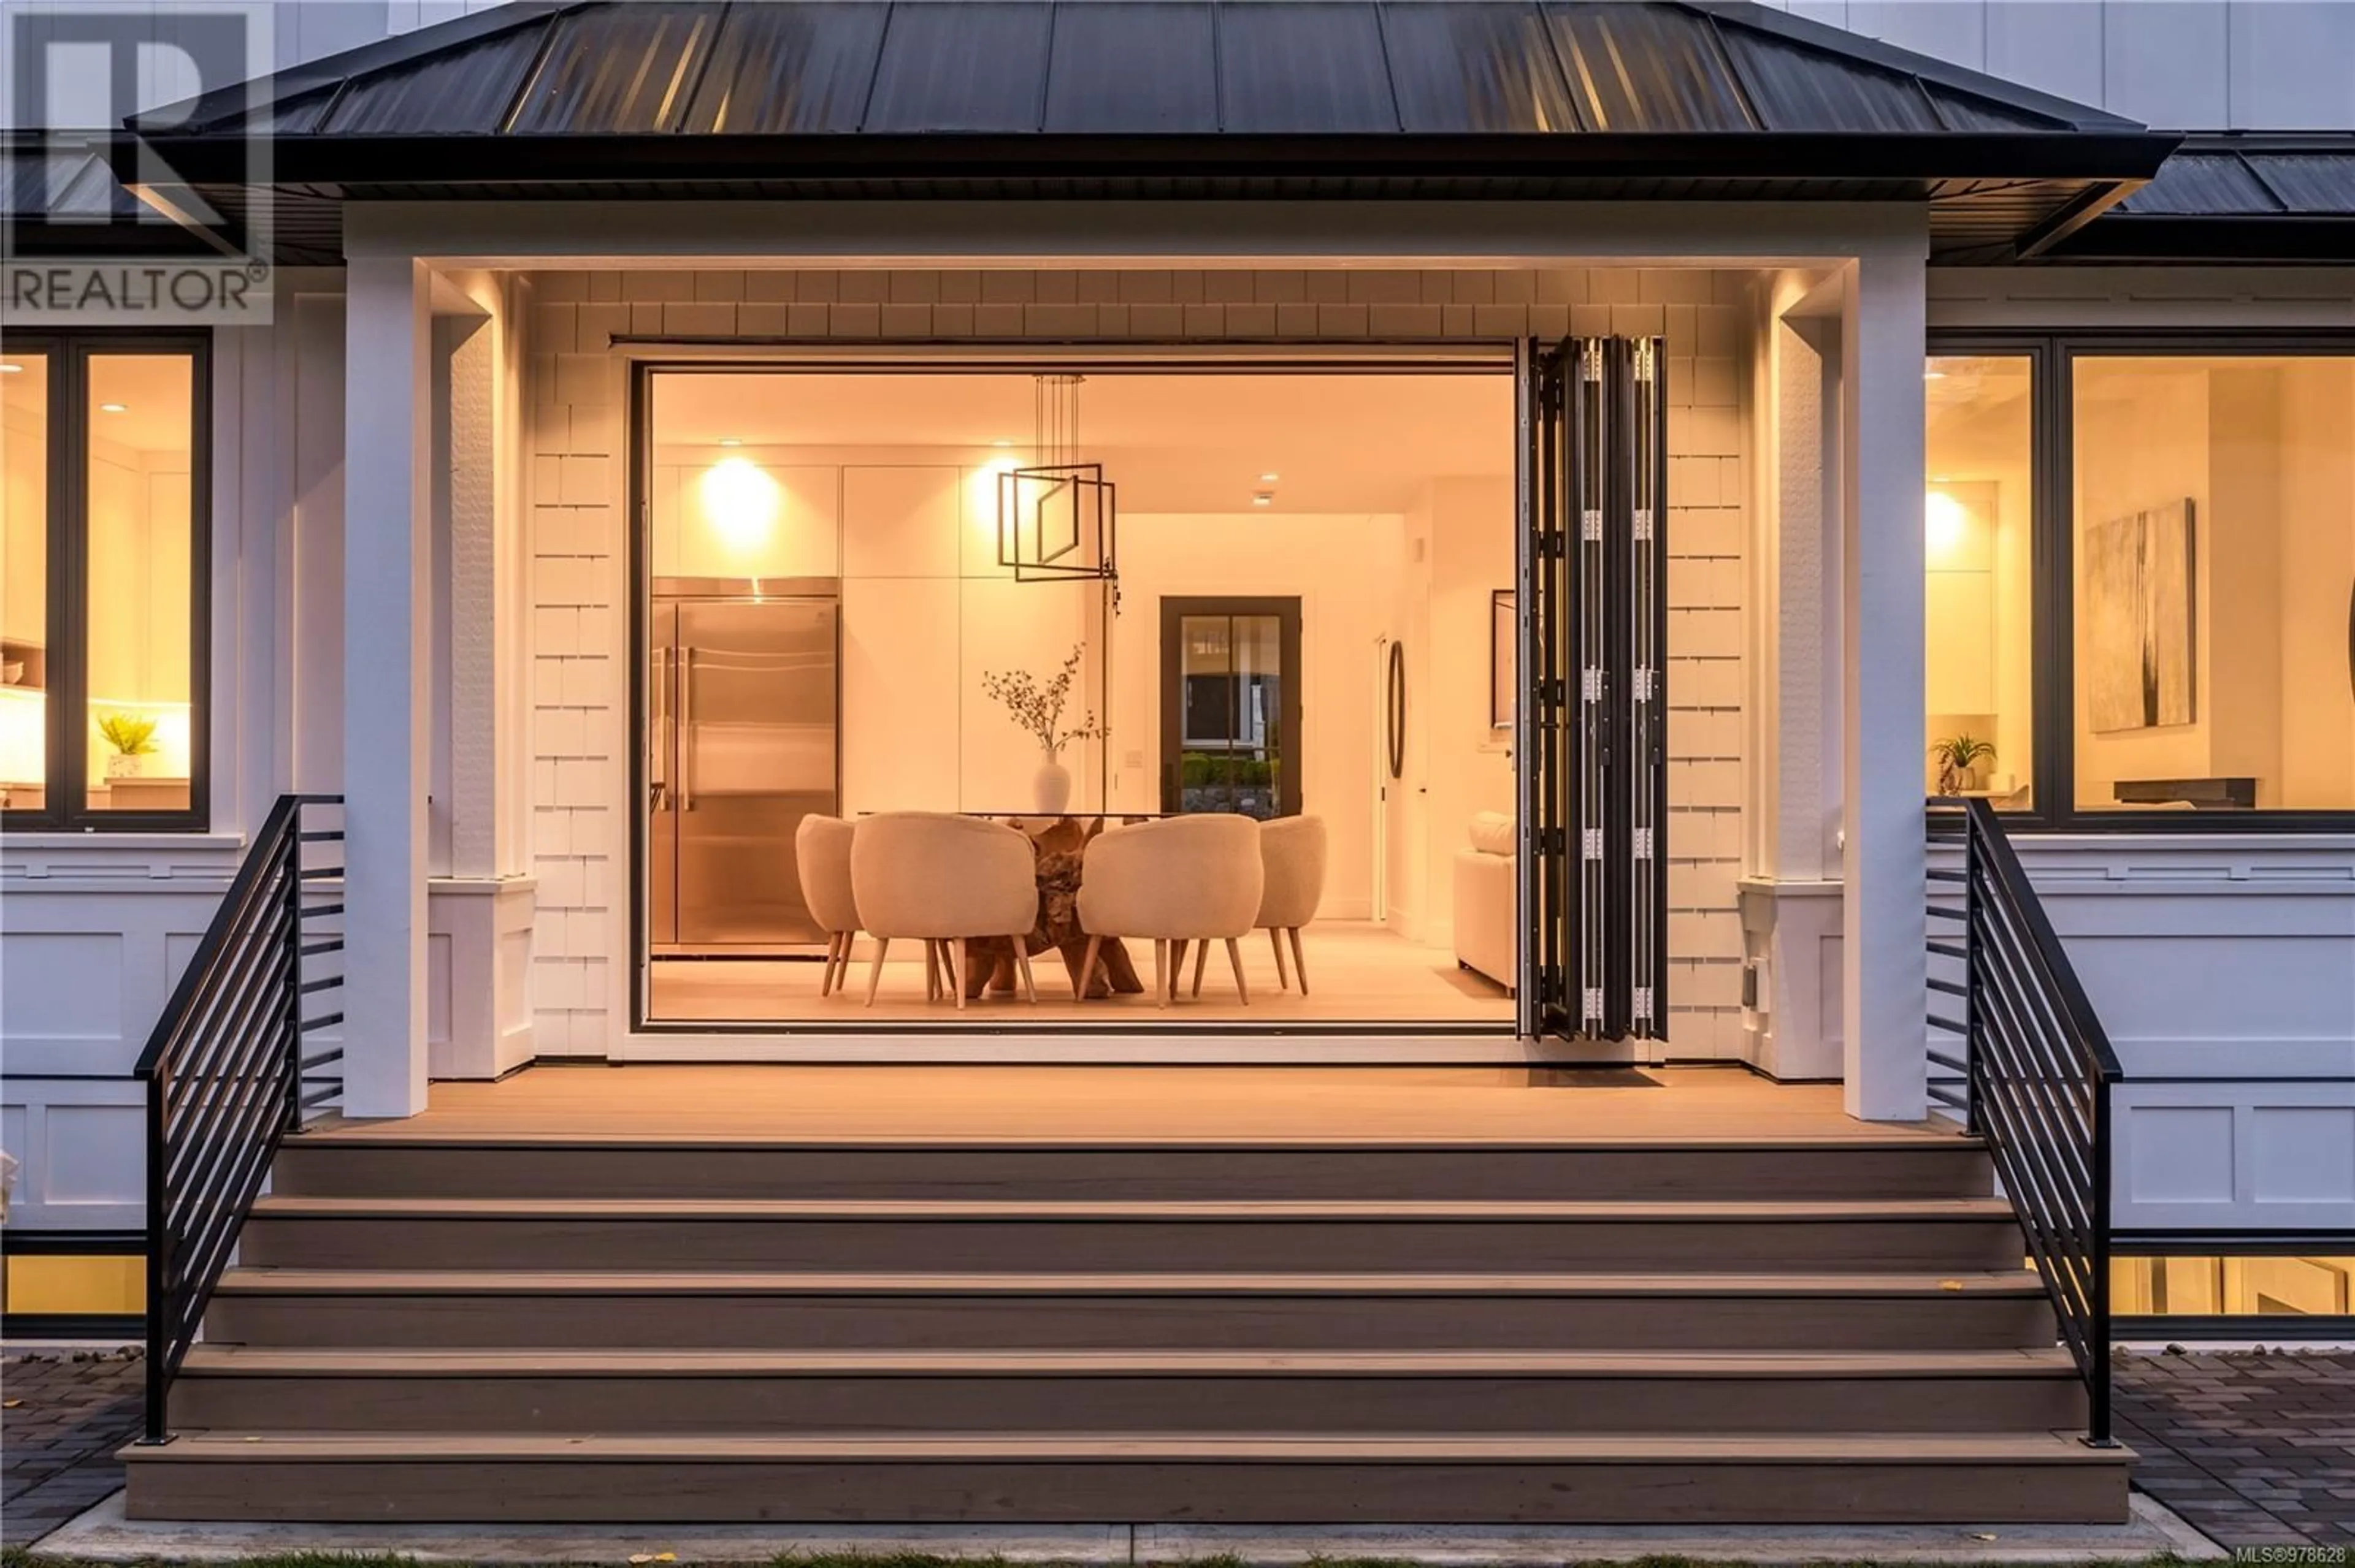
[[[290,1144],[313,1198],[1983,1198],[1988,1156],[1910,1149],[695,1149]]]

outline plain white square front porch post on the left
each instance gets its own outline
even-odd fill
[[[426,1104],[431,492],[426,273],[346,271],[344,1111]]]

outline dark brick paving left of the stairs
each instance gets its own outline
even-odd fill
[[[0,1356],[0,1544],[31,1547],[122,1486],[144,1373],[137,1349]]]

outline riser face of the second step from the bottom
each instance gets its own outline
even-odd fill
[[[2051,1431],[2061,1377],[382,1377],[181,1375],[172,1422],[243,1431]]]

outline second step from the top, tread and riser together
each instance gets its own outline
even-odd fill
[[[662,1201],[268,1196],[254,1264],[407,1269],[1995,1269],[1999,1198]]]

